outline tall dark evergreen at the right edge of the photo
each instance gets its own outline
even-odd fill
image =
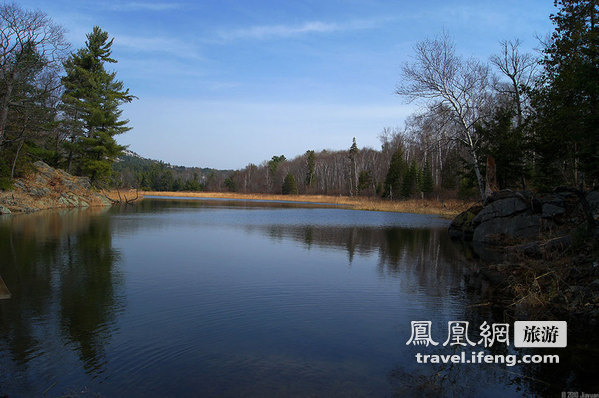
[[[599,2],[559,0],[533,95],[543,185],[599,180]]]

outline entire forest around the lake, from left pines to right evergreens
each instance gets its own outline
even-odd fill
[[[115,137],[131,127],[120,105],[135,97],[107,69],[116,62],[113,39],[95,27],[85,47],[69,53],[63,29],[43,12],[5,4],[1,185],[43,160],[97,186],[164,191],[480,199],[489,189],[595,187],[599,4],[560,0],[555,7],[555,30],[539,39],[538,53],[512,39],[488,60],[464,58],[446,32],[416,43],[395,92],[418,111],[402,127],[381,126],[380,148],[348,137],[346,150],[308,147],[292,159],[275,154],[218,171],[124,154]],[[493,181],[486,181],[488,167]]]

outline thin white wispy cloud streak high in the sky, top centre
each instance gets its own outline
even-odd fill
[[[382,19],[356,20],[349,22],[309,21],[299,25],[258,25],[249,28],[220,31],[222,40],[239,39],[276,39],[288,38],[311,33],[331,33],[350,30],[372,29],[384,22]]]

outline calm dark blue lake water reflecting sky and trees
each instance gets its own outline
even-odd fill
[[[0,397],[599,392],[576,341],[559,365],[416,363],[456,352],[448,321],[512,322],[447,225],[222,200],[2,217]],[[419,320],[439,346],[406,345]]]

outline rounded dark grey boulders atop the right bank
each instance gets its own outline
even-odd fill
[[[556,188],[550,194],[533,195],[502,190],[491,195],[484,206],[473,206],[458,215],[449,233],[453,238],[487,245],[563,237],[589,221],[588,210],[594,220],[599,218],[599,191],[582,194]]]

